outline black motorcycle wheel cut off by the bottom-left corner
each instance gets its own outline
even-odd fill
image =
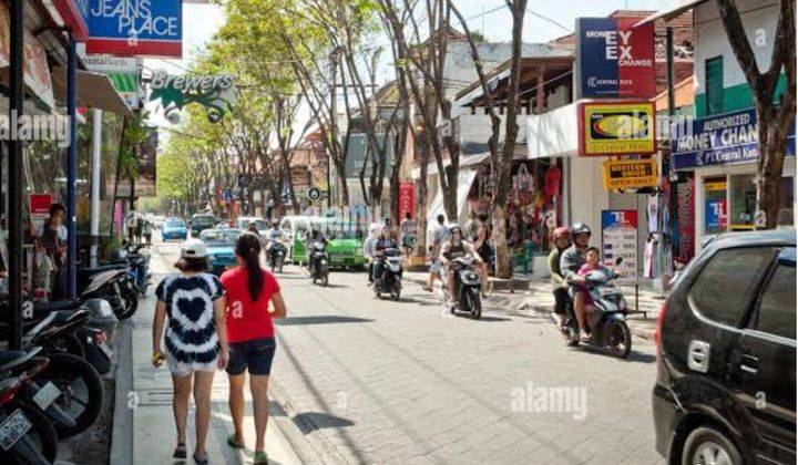
[[[51,464],[58,455],[58,435],[50,418],[25,401],[14,401],[2,407],[0,423],[17,409],[21,410],[31,428],[9,451],[0,448],[0,463],[13,465]]]

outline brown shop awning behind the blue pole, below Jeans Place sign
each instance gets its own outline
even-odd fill
[[[54,66],[52,81],[55,97],[61,102],[65,102],[66,70]],[[91,106],[92,108],[106,110],[122,115],[132,114],[109,76],[89,71],[78,71],[78,106]]]

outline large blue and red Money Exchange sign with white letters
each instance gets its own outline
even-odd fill
[[[649,99],[656,94],[654,22],[576,19],[577,99]]]

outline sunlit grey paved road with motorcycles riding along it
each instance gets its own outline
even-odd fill
[[[411,283],[397,303],[364,273],[336,272],[328,288],[297,267],[278,278],[278,401],[346,462],[663,463],[647,341],[621,361],[566,348],[545,316],[507,299],[472,321]]]

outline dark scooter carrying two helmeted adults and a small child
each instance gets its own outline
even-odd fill
[[[591,332],[587,343],[601,348],[608,347],[613,355],[625,359],[632,350],[632,333],[626,323],[628,312],[626,299],[623,292],[612,283],[617,277],[618,275],[608,268],[594,270],[585,276],[587,292],[593,300],[585,311],[587,328]],[[562,331],[566,335],[569,345],[579,345],[579,322],[573,302],[569,302],[566,308]]]

